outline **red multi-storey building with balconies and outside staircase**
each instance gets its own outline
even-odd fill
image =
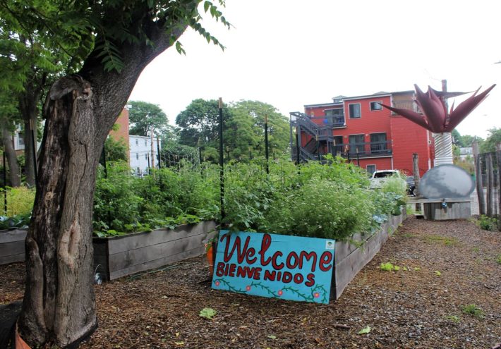
[[[308,104],[305,113],[291,113],[292,158],[301,161],[339,155],[369,173],[398,169],[412,174],[413,154],[419,172],[433,167],[434,146],[430,131],[383,108],[380,104],[414,109],[414,91],[378,92],[366,96],[338,96],[332,103]],[[298,144],[293,139],[293,129]]]

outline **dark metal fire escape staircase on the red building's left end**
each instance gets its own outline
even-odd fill
[[[293,161],[298,159],[298,150],[300,161],[323,161],[323,155],[334,152],[332,125],[317,125],[310,120],[308,115],[298,111],[291,112],[290,117],[290,145]],[[294,128],[296,128],[298,135],[298,144],[296,144],[296,139],[293,139]],[[301,145],[301,136],[303,134],[311,137],[304,146]]]

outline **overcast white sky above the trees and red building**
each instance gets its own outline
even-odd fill
[[[500,4],[491,0],[227,0],[226,30],[203,24],[224,51],[191,30],[140,76],[130,99],[158,104],[174,125],[193,99],[258,100],[289,117],[339,94],[482,91],[501,78]],[[456,101],[458,104],[460,100]],[[501,127],[501,85],[459,126]],[[452,100],[449,101],[452,104]]]

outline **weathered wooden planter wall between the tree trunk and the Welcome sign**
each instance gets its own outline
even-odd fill
[[[214,221],[185,224],[112,238],[93,238],[94,267],[105,280],[162,267],[205,253],[207,233]]]

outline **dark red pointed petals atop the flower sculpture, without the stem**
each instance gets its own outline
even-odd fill
[[[478,94],[478,90],[464,102],[459,104],[456,109],[454,109],[454,104],[451,107],[450,112],[447,111],[447,106],[442,98],[437,96],[435,90],[431,87],[428,87],[428,92],[423,92],[418,87],[418,85],[414,85],[416,87],[416,104],[418,104],[419,109],[423,111],[423,114],[418,113],[416,111],[412,111],[410,109],[400,109],[394,108],[392,106],[386,106],[382,104],[386,109],[390,109],[395,113],[404,116],[404,118],[409,119],[410,121],[417,123],[418,125],[423,126],[427,130],[430,130],[433,133],[445,133],[452,132],[454,128],[461,121],[463,121],[466,116],[468,116],[473,109],[481,104],[483,99],[487,97],[487,94],[490,90],[493,90],[495,85],[492,85],[487,90]]]

